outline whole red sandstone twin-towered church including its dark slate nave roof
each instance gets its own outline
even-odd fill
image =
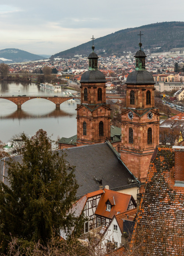
[[[126,81],[126,106],[121,128],[111,125],[106,103],[106,79],[98,70],[98,55],[89,54],[89,70],[81,76],[81,104],[77,105],[77,134],[59,141],[59,155],[66,153],[75,166],[77,198],[104,189],[137,197],[144,188],[149,164],[159,144],[159,109],[154,106],[154,79],[145,70],[144,51],[135,54],[135,71]],[[0,180],[8,181],[6,161],[0,161]],[[20,156],[14,160],[21,163]],[[5,178],[4,178],[5,177]]]

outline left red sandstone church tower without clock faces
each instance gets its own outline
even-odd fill
[[[92,38],[94,39],[94,38]],[[110,140],[110,105],[106,104],[106,79],[98,70],[98,55],[89,54],[89,70],[81,76],[81,104],[77,105],[77,146]]]

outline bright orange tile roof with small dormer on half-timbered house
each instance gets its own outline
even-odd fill
[[[104,216],[106,218],[112,219],[117,212],[125,212],[128,209],[130,203],[131,195],[123,194],[117,191],[104,189],[105,193],[101,195],[98,206],[96,208],[95,214]],[[112,205],[110,211],[106,211],[107,205],[106,202],[108,199],[112,201],[114,197],[115,204]]]

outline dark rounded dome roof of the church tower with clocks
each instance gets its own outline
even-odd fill
[[[127,81],[125,82],[128,84],[155,84],[154,78],[151,73],[146,70],[135,70],[132,71],[127,76]]]

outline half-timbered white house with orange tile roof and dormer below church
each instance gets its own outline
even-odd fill
[[[88,233],[92,229],[98,229],[101,226],[101,232],[103,233],[106,227],[109,225],[110,221],[113,219],[114,215],[120,212],[126,212],[128,209],[135,209],[135,212],[137,211],[136,207],[137,204],[132,195],[109,190],[108,186],[106,186],[104,189],[88,193],[81,197],[72,206],[71,211],[75,216],[79,216],[82,214],[82,212],[84,212],[85,217],[88,219],[88,221],[86,221],[83,226],[84,234]],[[125,217],[126,216],[124,216],[124,218]],[[119,224],[121,223],[120,218],[121,216],[117,217]],[[121,223],[120,226],[121,230],[123,230],[123,223]],[[64,239],[67,238],[67,235],[68,234],[64,230],[61,231],[61,236]]]

